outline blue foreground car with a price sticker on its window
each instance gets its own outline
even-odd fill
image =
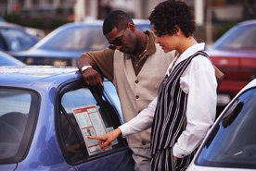
[[[129,171],[122,137],[106,149],[88,135],[122,124],[111,82],[85,86],[77,67],[0,67],[0,170]]]

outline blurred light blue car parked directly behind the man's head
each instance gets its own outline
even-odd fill
[[[148,20],[134,19],[134,23],[143,31],[150,30]],[[100,20],[65,24],[31,49],[12,55],[28,65],[76,66],[76,59],[84,52],[109,46],[102,33],[102,24]]]

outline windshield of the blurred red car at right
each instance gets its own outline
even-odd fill
[[[213,46],[217,49],[256,50],[256,25],[235,27]]]

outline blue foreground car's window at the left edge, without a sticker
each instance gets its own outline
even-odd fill
[[[24,156],[37,102],[33,92],[0,88],[0,164],[16,163]]]

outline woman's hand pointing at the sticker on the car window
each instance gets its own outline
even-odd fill
[[[100,148],[104,149],[109,146],[109,143],[111,143],[113,140],[116,140],[121,134],[122,134],[121,129],[116,128],[102,136],[88,136],[88,138],[98,140],[98,144]]]

